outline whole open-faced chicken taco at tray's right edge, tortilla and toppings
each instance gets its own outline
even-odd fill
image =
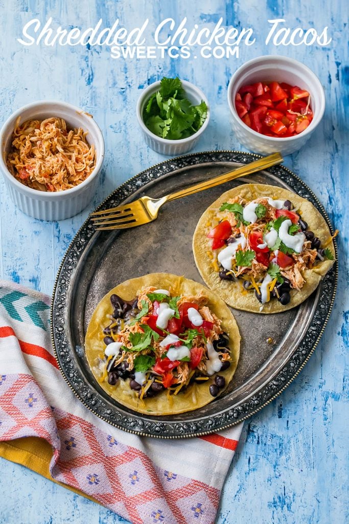
[[[202,214],[193,252],[201,277],[231,307],[279,313],[306,300],[333,266],[332,239],[308,200],[244,184]]]

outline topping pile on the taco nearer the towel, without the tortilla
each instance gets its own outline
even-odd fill
[[[208,297],[172,296],[166,289],[143,288],[132,301],[110,297],[114,312],[103,333],[104,371],[112,386],[129,380],[138,396],[154,397],[167,390],[177,395],[192,381],[205,381],[230,366],[229,336],[207,306]],[[216,375],[213,397],[224,388]]]

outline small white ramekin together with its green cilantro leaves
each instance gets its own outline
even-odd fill
[[[185,80],[164,77],[141,94],[137,118],[145,141],[163,155],[192,149],[209,122],[206,96]]]

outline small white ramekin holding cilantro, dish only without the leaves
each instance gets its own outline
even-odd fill
[[[206,127],[208,126],[210,119],[210,108],[206,96],[200,89],[196,87],[196,85],[191,84],[190,82],[182,80],[182,85],[187,99],[192,102],[193,105],[199,105],[202,100],[206,102],[207,105],[207,117],[204,124],[202,124],[200,129],[194,133],[194,135],[188,136],[188,138],[181,138],[180,140],[168,140],[166,138],[161,138],[154,135],[154,133],[152,133],[143,122],[142,114],[144,106],[150,99],[151,95],[160,89],[160,81],[154,82],[153,84],[149,85],[148,88],[145,88],[137,102],[137,119],[143,132],[144,140],[149,147],[154,149],[154,151],[161,153],[162,155],[183,155],[195,146],[199,137],[202,133],[204,133]]]

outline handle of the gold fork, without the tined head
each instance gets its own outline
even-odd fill
[[[273,153],[272,155],[260,158],[254,162],[235,168],[232,171],[228,171],[228,173],[220,174],[219,177],[211,178],[210,180],[205,180],[204,182],[199,182],[198,184],[191,185],[189,188],[181,189],[180,191],[166,195],[166,200],[162,203],[171,202],[171,200],[181,198],[182,196],[192,195],[194,193],[198,193],[199,191],[203,191],[204,189],[214,188],[215,185],[229,182],[229,180],[234,180],[234,178],[245,177],[247,174],[255,173],[256,171],[261,171],[262,169],[275,166],[283,160],[284,159],[280,153]]]

